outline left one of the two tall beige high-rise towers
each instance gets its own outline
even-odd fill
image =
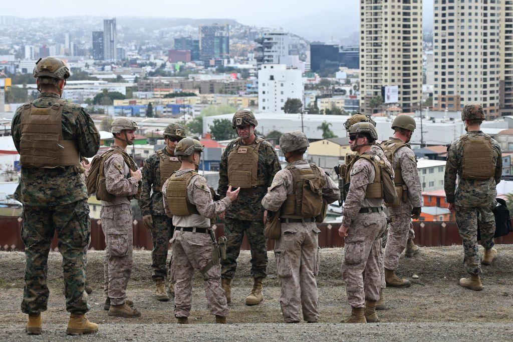
[[[443,0],[445,1],[445,0]],[[412,112],[422,96],[422,2],[360,0],[360,108],[382,87],[398,86],[397,105]]]

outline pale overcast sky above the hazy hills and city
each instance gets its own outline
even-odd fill
[[[307,39],[358,31],[359,0],[21,0],[2,1],[0,15],[230,18],[241,24],[282,27]],[[424,25],[432,27],[433,0],[424,0]]]

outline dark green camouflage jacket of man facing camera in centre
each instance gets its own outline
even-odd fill
[[[255,142],[253,142],[253,144],[256,144]],[[228,144],[221,156],[218,188],[218,193],[221,198],[226,196],[226,191],[228,190],[228,156],[234,146],[235,140]],[[258,179],[264,180],[266,184],[252,189],[241,189],[237,200],[226,211],[226,217],[243,220],[262,220],[264,217],[262,198],[264,198],[264,195],[267,193],[267,188],[271,186],[272,178],[280,170],[280,161],[278,160],[276,151],[274,151],[272,145],[267,141],[262,142],[259,148],[257,177]]]

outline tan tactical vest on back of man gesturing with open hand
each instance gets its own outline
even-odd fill
[[[187,187],[189,183],[198,172],[189,171],[176,175],[176,172],[169,177],[166,189],[166,201],[167,207],[171,214],[178,216],[199,215],[198,208],[189,202],[187,198]]]

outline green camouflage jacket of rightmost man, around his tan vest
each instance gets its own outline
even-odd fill
[[[482,131],[470,131],[466,134],[469,138],[483,136]],[[491,139],[495,162],[495,176],[487,180],[474,180],[461,178],[463,143],[461,138],[452,142],[447,153],[447,162],[445,166],[445,196],[447,203],[454,203],[460,207],[478,207],[494,203],[497,196],[496,186],[501,181],[502,175],[502,152],[499,143]],[[456,175],[458,177],[458,187],[456,187]]]

